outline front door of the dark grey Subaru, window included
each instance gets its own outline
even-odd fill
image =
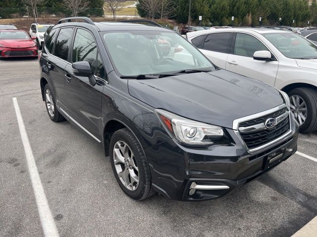
[[[88,77],[76,76],[68,64],[65,68],[66,108],[71,120],[96,140],[101,140],[101,105],[106,73],[93,34],[82,28],[77,28],[71,52],[71,62],[79,61],[90,63],[97,84],[91,85]]]

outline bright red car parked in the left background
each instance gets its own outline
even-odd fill
[[[38,47],[33,40],[25,31],[0,30],[0,58],[38,57]]]

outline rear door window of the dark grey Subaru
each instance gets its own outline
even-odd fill
[[[62,28],[55,42],[54,55],[67,61],[68,48],[73,34],[73,28]]]

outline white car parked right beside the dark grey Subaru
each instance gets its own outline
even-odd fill
[[[285,91],[300,131],[317,130],[317,45],[291,31],[265,28],[206,30],[186,37],[216,66]]]

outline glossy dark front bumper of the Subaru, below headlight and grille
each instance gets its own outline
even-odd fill
[[[266,150],[250,154],[229,130],[233,143],[206,150],[187,148],[173,139],[145,150],[153,188],[177,200],[208,200],[222,197],[235,188],[271,170],[297,151],[298,127]],[[271,161],[271,162],[270,162]]]

